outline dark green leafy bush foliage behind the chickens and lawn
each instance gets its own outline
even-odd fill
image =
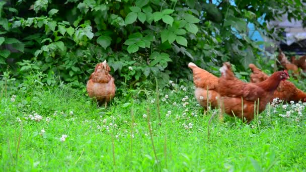
[[[47,84],[55,74],[84,87],[106,59],[119,84],[136,87],[155,77],[162,85],[186,78],[189,61],[213,73],[228,60],[245,70],[263,51],[247,25],[271,37],[280,31],[259,17],[270,21],[287,12],[301,20],[306,8],[299,0],[12,0],[0,9],[0,73],[8,66],[17,76],[42,71]]]

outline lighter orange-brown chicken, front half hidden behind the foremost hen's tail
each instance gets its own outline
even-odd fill
[[[188,67],[192,69],[193,72],[193,83],[196,87],[194,91],[194,96],[198,103],[206,108],[207,98],[212,108],[218,107],[218,102],[216,97],[218,93],[216,92],[216,87],[218,84],[218,77],[209,73],[208,71],[201,69],[194,63],[189,63]],[[208,90],[208,94],[207,94]]]

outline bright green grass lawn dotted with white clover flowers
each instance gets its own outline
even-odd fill
[[[216,117],[210,125],[208,140],[207,123],[217,110],[210,110],[203,116],[202,108],[193,98],[192,83],[187,84],[187,91],[180,86],[160,90],[161,125],[157,115],[156,91],[130,91],[129,96],[116,97],[104,109],[97,108],[84,91],[63,85],[46,87],[35,82],[26,89],[20,87],[8,91],[7,96],[2,88],[0,170],[306,169],[304,107],[300,108],[300,116],[296,111],[298,105],[288,105],[286,109],[282,104],[270,106],[269,116],[267,108],[260,114],[259,121],[252,121],[250,125],[228,116],[225,116],[224,123],[220,123]],[[148,99],[144,93],[147,93]],[[16,95],[14,102],[11,99],[13,94]],[[186,96],[188,99],[182,101]],[[185,102],[189,103],[186,107],[183,106]],[[279,116],[286,115],[290,109],[290,117]],[[169,117],[166,116],[168,111],[171,111],[167,115]],[[35,113],[42,116],[40,121],[27,119]],[[146,114],[146,118],[143,114]],[[46,121],[47,118],[49,121]],[[152,138],[148,122],[152,128]],[[67,135],[65,141],[61,141],[62,135]]]

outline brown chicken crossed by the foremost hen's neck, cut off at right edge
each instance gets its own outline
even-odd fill
[[[250,64],[249,67],[253,72],[250,75],[251,82],[261,82],[269,77],[266,73],[262,72],[254,64]],[[292,82],[284,80],[279,83],[278,88],[274,91],[273,98],[270,101],[272,101],[274,98],[279,98],[280,100],[287,102],[306,102],[306,93],[297,89]]]

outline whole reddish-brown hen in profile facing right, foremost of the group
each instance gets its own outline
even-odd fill
[[[259,113],[264,111],[280,81],[289,77],[287,71],[277,71],[262,82],[243,82],[235,77],[228,62],[223,63],[220,71],[217,92],[222,112],[246,118],[247,122],[254,118],[254,102],[258,104],[259,99]]]

